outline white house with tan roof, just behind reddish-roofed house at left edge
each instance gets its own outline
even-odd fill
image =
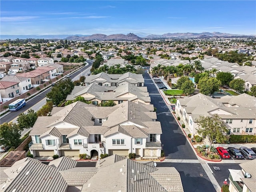
[[[20,93],[26,93],[32,88],[31,78],[29,77],[18,77],[18,76],[4,76],[0,82],[17,82],[19,83]]]

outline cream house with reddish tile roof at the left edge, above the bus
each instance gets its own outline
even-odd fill
[[[3,102],[18,96],[21,93],[18,82],[0,81],[0,94]]]

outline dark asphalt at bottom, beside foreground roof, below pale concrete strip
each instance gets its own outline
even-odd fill
[[[157,167],[175,167],[180,173],[184,192],[215,192],[200,163],[157,163]]]

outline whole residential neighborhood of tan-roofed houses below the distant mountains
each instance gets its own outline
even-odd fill
[[[256,191],[255,39],[18,41],[0,191]]]

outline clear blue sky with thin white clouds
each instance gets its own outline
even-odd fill
[[[2,35],[256,34],[255,0],[1,0],[0,3]]]

